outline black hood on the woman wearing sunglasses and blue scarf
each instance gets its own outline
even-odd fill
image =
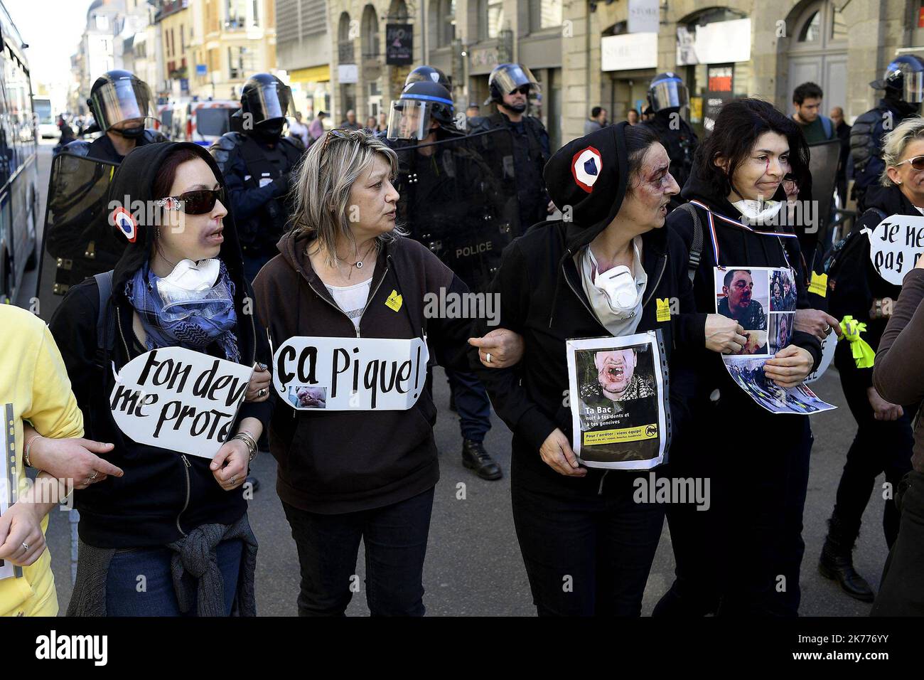
[[[113,213],[117,208],[124,208],[134,218],[137,233],[135,241],[128,243],[125,252],[122,253],[122,257],[116,263],[113,274],[113,291],[116,294],[121,295],[124,293],[128,279],[132,278],[135,272],[150,259],[154,242],[154,227],[158,224],[156,220],[160,217],[162,209],[149,206],[152,201],[164,198],[164,196],[153,195],[154,179],[156,179],[157,173],[163,166],[167,155],[180,149],[189,149],[195,155],[198,155],[212,168],[215,178],[223,186],[225,184],[222,172],[212,155],[204,147],[192,142],[144,144],[125,157],[125,160],[116,169],[116,174],[109,187],[107,218],[112,229],[118,229],[114,225]],[[230,202],[223,199],[222,204],[225,205],[228,214],[222,219],[222,235],[225,237],[225,241],[222,243],[218,257],[225,263],[228,274],[231,280],[234,281],[235,298],[239,301],[247,294],[243,258],[240,253],[240,243],[237,240],[237,229],[234,216],[231,214]]]

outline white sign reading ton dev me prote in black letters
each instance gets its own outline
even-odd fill
[[[214,458],[232,434],[252,372],[182,347],[145,352],[116,377],[113,419],[142,444]]]

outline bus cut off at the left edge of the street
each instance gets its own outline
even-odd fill
[[[15,299],[27,269],[38,264],[36,122],[29,62],[6,7],[0,2],[0,301]]]

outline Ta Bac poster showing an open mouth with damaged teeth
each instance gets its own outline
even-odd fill
[[[670,443],[660,331],[567,340],[572,448],[582,464],[647,470]]]

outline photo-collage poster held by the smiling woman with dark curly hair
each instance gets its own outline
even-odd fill
[[[715,267],[715,311],[738,322],[747,338],[723,354],[725,369],[745,393],[772,414],[816,414],[835,408],[805,384],[785,389],[764,365],[790,343],[796,319],[796,273],[788,267]]]

